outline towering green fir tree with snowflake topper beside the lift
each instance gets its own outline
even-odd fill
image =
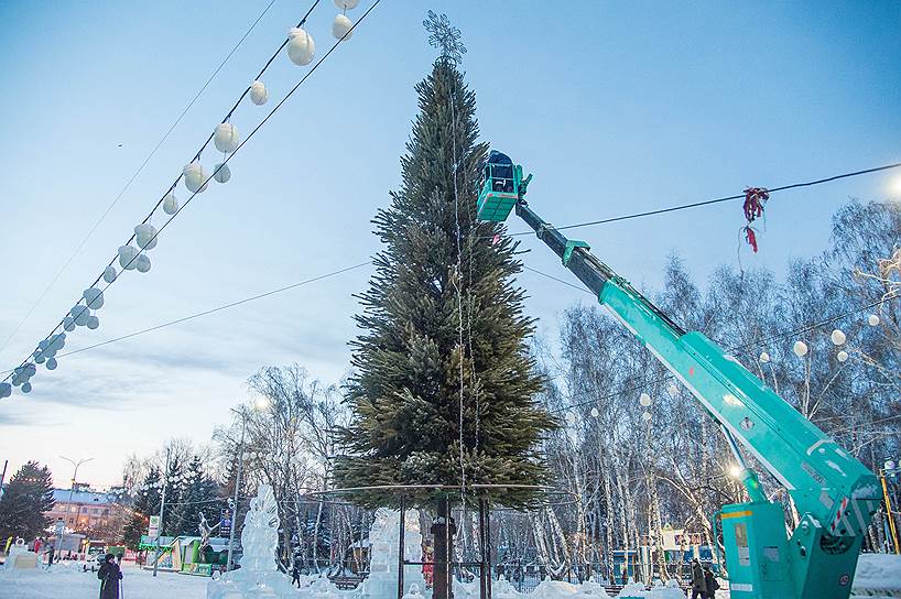
[[[354,418],[336,483],[540,484],[538,444],[554,421],[534,401],[542,381],[527,347],[533,320],[513,280],[515,244],[501,225],[476,219],[487,145],[476,141],[475,94],[447,52],[416,92],[402,185],[373,220],[384,249],[356,317],[363,333],[346,388]],[[534,493],[489,495],[522,507]],[[356,497],[369,505],[398,498]],[[433,493],[410,498],[434,505]]]

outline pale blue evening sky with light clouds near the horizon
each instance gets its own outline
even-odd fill
[[[274,1],[44,294],[268,3],[0,3],[2,369],[75,304],[312,0]],[[231,181],[210,183],[166,228],[152,270],[107,292],[100,328],[69,335],[66,351],[378,251],[370,219],[399,186],[413,86],[436,56],[422,26],[428,9],[463,32],[482,140],[534,174],[530,205],[556,225],[901,161],[897,2],[383,0],[229,162]],[[336,13],[322,0],[307,22],[317,58],[334,42]],[[263,77],[269,104],[245,101],[232,119],[239,132],[308,69],[280,55]],[[207,151],[203,163],[209,171],[220,159]],[[176,195],[188,196],[183,186]],[[739,260],[781,272],[826,246],[831,215],[848,198],[899,196],[898,171],[774,194],[758,254],[740,242],[740,203],[571,233],[640,286],[659,286],[673,253],[704,284]],[[529,266],[575,282],[543,244],[522,241]],[[0,461],[14,471],[36,459],[65,487],[72,468],[59,456],[90,457],[79,481],[116,484],[131,454],[172,437],[208,443],[248,401],[246,381],[262,366],[297,362],[339,381],[357,334],[354,294],[369,274],[361,268],[42,368],[32,393],[0,400]],[[552,344],[558,315],[593,301],[530,271],[520,283]]]

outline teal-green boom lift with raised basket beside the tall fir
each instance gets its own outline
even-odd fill
[[[585,241],[567,239],[525,202],[532,175],[491,152],[478,198],[481,220],[515,209],[601,305],[638,337],[702,403],[726,436],[750,501],[724,505],[719,521],[734,599],[847,599],[860,544],[880,503],[876,476],[727,351],[686,333],[601,262]],[[782,507],[767,499],[739,443],[789,493],[801,520],[791,535]]]

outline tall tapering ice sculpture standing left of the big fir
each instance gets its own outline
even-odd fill
[[[286,599],[296,598],[291,579],[279,571],[275,548],[279,544],[279,505],[268,484],[260,484],[250,500],[250,511],[241,531],[241,567],[207,584],[207,599]]]

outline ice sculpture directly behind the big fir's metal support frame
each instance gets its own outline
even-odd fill
[[[397,510],[379,510],[369,532],[370,564],[369,577],[363,582],[362,593],[372,599],[390,599],[398,596],[398,533],[401,514]],[[404,558],[422,562],[422,533],[420,513],[408,510],[404,515]],[[412,586],[416,589],[413,591]],[[425,588],[425,578],[420,566],[408,566],[403,570],[404,595],[420,595],[426,598],[432,591]],[[411,592],[412,591],[412,592]]]

